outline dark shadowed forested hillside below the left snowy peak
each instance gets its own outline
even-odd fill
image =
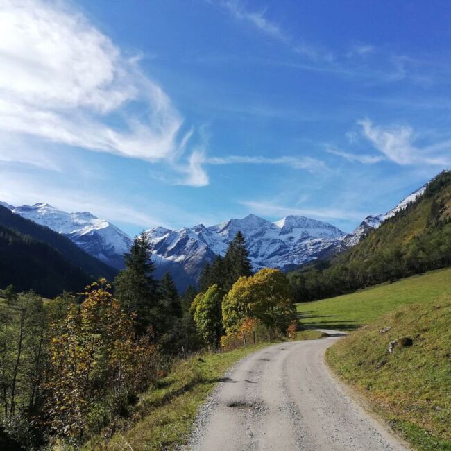
[[[35,289],[54,297],[80,291],[95,278],[116,271],[87,255],[69,239],[0,205],[0,288]]]

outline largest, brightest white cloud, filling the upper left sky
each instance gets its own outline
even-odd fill
[[[169,96],[80,12],[2,0],[0,29],[1,130],[148,162],[182,157],[192,132]],[[125,112],[132,103],[146,114]]]

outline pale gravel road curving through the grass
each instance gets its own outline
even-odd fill
[[[254,352],[203,407],[190,450],[409,450],[347,394],[323,355],[341,332]]]

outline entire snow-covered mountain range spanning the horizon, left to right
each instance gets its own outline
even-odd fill
[[[152,244],[156,276],[169,271],[180,290],[195,284],[205,263],[226,253],[229,242],[241,231],[248,244],[253,269],[264,267],[293,269],[313,259],[333,255],[355,246],[372,228],[377,228],[399,210],[403,210],[423,194],[427,185],[409,194],[396,207],[384,214],[367,216],[350,234],[323,221],[305,216],[286,216],[280,221],[267,221],[254,214],[243,219],[229,219],[216,226],[203,224],[192,228],[170,230],[155,227],[146,230]],[[121,269],[123,255],[132,239],[90,212],[67,213],[46,203],[12,207],[12,212],[69,237],[85,252]]]

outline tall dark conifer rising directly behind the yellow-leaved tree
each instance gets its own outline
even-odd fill
[[[224,266],[227,274],[223,287],[226,291],[229,291],[241,276],[248,277],[253,275],[246,241],[243,234],[239,231],[228,246],[226,257],[224,258]]]

